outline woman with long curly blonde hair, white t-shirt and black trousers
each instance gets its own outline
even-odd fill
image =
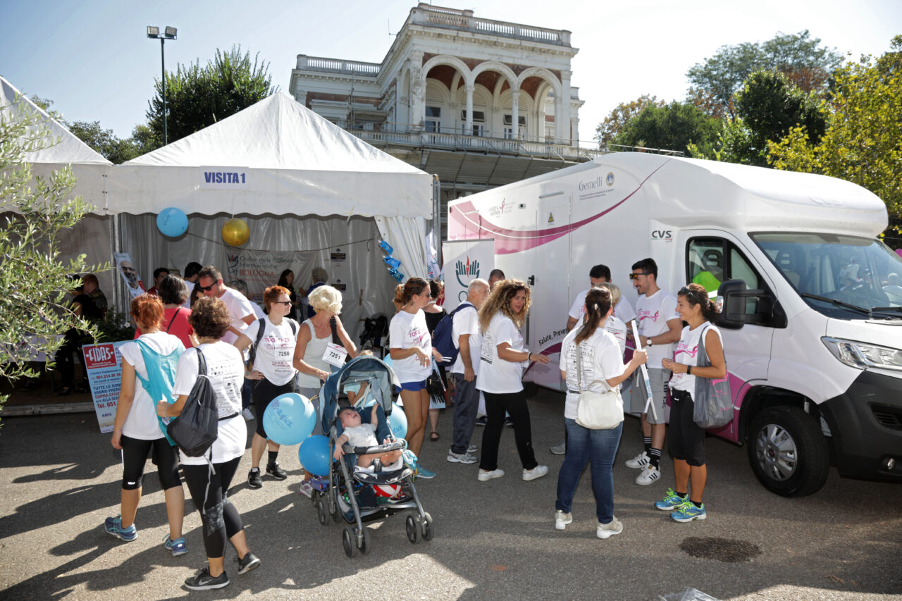
[[[504,411],[511,415],[517,452],[523,464],[523,479],[535,480],[548,474],[539,466],[532,448],[529,407],[523,393],[523,367],[529,362],[548,364],[548,357],[531,353],[523,347],[520,328],[529,312],[529,287],[521,280],[503,280],[479,310],[479,327],[483,330],[476,388],[485,394],[487,421],[483,431],[483,457],[479,462],[479,480],[504,476],[498,468],[498,444],[504,428]]]

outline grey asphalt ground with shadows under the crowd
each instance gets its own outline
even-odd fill
[[[0,429],[0,598],[657,599],[687,587],[718,599],[902,598],[899,485],[842,478],[833,469],[819,493],[787,499],[759,485],[745,448],[709,438],[708,519],[676,523],[652,506],[672,485],[668,459],[661,480],[649,486],[635,485],[637,472],[623,466],[641,450],[638,421],[630,417],[614,468],[615,513],[624,530],[601,541],[594,534],[588,470],[576,494],[575,521],[565,532],[554,528],[563,458],[548,447],[563,435],[563,396],[541,391],[530,411],[548,476],[521,480],[511,429],[504,431],[500,455],[506,476],[478,482],[475,465],[447,463],[452,420],[444,411],[441,439],[427,440],[422,452],[423,464],[438,476],[417,482],[435,538],[411,545],[404,515],[394,515],[368,526],[373,551],[354,559],[345,557],[341,527],[321,526],[308,498],[298,494],[297,447],[281,452],[289,479],[265,476],[259,490],[244,479],[246,452],[230,496],[262,565],[238,576],[229,547],[231,585],[205,592],[182,586],[206,561],[200,516],[189,500],[188,554],[173,558],[162,549],[169,531],[150,462],[138,538],[118,541],[102,524],[118,513],[119,455],[95,416],[6,418]],[[474,442],[481,437],[477,427]]]

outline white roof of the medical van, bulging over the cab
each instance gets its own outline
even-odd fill
[[[888,226],[886,204],[850,181],[652,153],[604,154],[591,162],[480,194],[515,195],[534,185],[539,186],[538,194],[545,194],[560,190],[562,184],[567,188],[563,179],[592,179],[586,171],[594,170],[603,174],[626,172],[642,182],[641,189],[649,200],[649,217],[676,227],[820,231],[873,237]]]

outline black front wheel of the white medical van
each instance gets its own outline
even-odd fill
[[[770,407],[756,415],[748,452],[759,482],[777,495],[813,495],[830,471],[830,451],[817,421],[797,407]]]

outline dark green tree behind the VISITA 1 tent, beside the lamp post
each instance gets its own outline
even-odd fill
[[[179,65],[175,72],[166,73],[166,109],[168,111],[169,141],[213,125],[216,121],[235,115],[270,96],[272,87],[269,63],[251,60],[251,53],[242,54],[241,46],[231,51],[216,50],[213,60],[205,67],[200,60],[188,66]],[[156,95],[147,111],[148,125],[155,138],[163,139],[162,83],[155,80]]]

